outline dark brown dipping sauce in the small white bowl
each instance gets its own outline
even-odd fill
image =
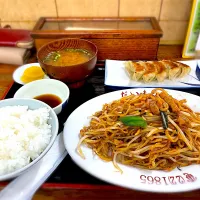
[[[60,97],[54,94],[42,94],[42,95],[34,97],[34,99],[40,100],[48,104],[51,108],[55,108],[56,106],[62,103],[62,100],[60,99]]]

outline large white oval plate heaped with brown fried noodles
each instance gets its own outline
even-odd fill
[[[161,88],[110,92],[67,119],[73,161],[114,185],[150,192],[200,189],[200,97]]]

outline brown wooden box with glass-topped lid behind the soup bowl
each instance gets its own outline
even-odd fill
[[[60,38],[82,38],[98,47],[98,60],[155,60],[162,30],[154,17],[46,18],[31,36],[38,50]]]

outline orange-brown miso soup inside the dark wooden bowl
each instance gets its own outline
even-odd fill
[[[92,54],[84,49],[63,49],[49,53],[44,63],[53,66],[71,66],[87,62]]]

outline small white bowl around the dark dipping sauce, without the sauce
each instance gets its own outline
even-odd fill
[[[17,90],[14,98],[33,99],[36,96],[44,94],[53,94],[61,99],[61,103],[54,107],[53,110],[58,115],[67,105],[69,99],[69,88],[66,84],[55,79],[41,79],[27,83]]]

